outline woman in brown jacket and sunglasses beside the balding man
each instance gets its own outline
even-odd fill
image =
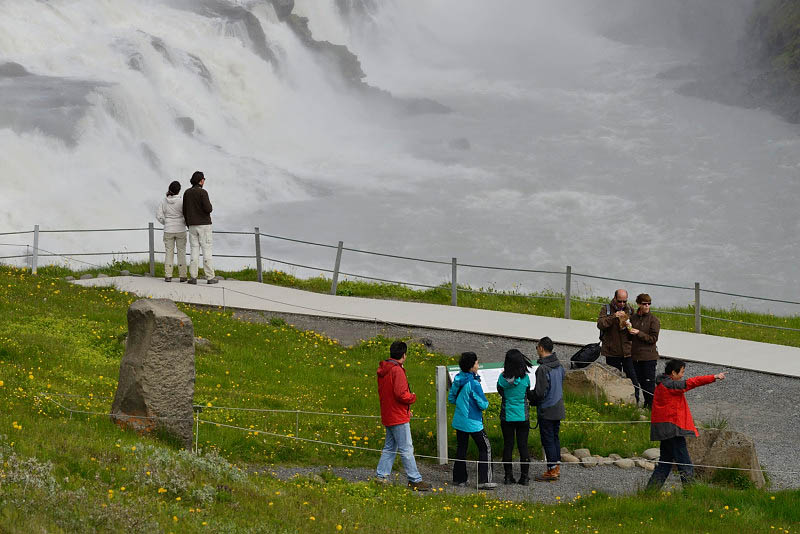
[[[631,317],[631,358],[636,378],[642,386],[645,408],[653,407],[653,392],[656,389],[656,364],[658,363],[658,332],[661,321],[650,313],[653,300],[647,293],[636,297],[639,307]]]

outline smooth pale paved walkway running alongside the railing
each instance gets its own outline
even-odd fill
[[[206,286],[166,283],[161,278],[118,276],[75,282],[114,286],[121,291],[191,304],[295,313],[413,325],[522,339],[550,336],[556,343],[584,345],[597,340],[594,323],[518,313],[394,300],[341,297],[298,289],[224,280]],[[659,353],[689,361],[800,377],[800,348],[726,337],[662,330]]]

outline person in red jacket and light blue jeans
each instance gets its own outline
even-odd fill
[[[408,487],[416,491],[428,491],[431,485],[422,481],[414,459],[414,444],[411,442],[411,405],[417,396],[408,388],[408,379],[403,364],[408,346],[395,341],[389,347],[388,360],[378,366],[378,396],[381,400],[381,422],[386,427],[386,444],[378,461],[378,482],[387,483],[392,473],[394,458],[400,453],[403,468],[408,477]]]

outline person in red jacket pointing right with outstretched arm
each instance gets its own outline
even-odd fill
[[[685,362],[670,360],[664,368],[664,374],[656,378],[653,411],[650,413],[650,440],[661,442],[661,457],[647,482],[648,491],[661,489],[673,465],[681,474],[681,482],[691,483],[694,468],[686,448],[686,436],[698,434],[684,393],[725,378],[725,373],[719,373],[684,379],[685,371]]]

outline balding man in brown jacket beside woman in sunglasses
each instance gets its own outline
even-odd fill
[[[630,317],[633,309],[628,306],[628,292],[617,289],[611,302],[600,308],[597,316],[597,328],[600,330],[602,342],[600,354],[606,357],[606,363],[625,372],[639,402],[639,381],[631,359]]]

